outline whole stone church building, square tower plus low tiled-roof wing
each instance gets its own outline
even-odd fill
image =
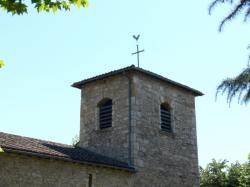
[[[134,65],[72,86],[81,91],[80,141],[0,132],[0,187],[199,186],[200,91]]]

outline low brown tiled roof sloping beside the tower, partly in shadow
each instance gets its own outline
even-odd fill
[[[134,168],[125,162],[97,154],[84,148],[3,132],[0,132],[0,148],[6,153],[53,158],[56,160],[134,171]]]

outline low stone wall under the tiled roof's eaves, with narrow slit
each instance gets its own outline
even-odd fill
[[[131,187],[132,173],[15,154],[0,153],[0,187]]]

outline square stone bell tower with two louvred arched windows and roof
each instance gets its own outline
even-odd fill
[[[80,147],[128,162],[134,186],[199,186],[201,92],[135,66],[72,86],[81,89]]]

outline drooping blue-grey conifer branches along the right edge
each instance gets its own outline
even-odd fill
[[[214,0],[209,6],[209,14],[213,10],[213,8],[218,4],[230,3],[232,4],[232,11],[225,16],[225,18],[221,21],[219,26],[219,31],[222,30],[222,27],[227,21],[232,20],[236,15],[243,13],[244,20],[250,17],[250,0],[238,0],[235,3],[235,0]],[[249,47],[248,47],[249,48]],[[250,61],[250,55],[249,55]],[[234,78],[227,78],[223,80],[220,85],[217,87],[217,94],[221,92],[224,94],[227,92],[227,102],[230,104],[232,99],[238,96],[238,101],[241,103],[247,104],[250,101],[250,66],[243,69],[243,71]],[[217,95],[216,94],[216,95]]]

